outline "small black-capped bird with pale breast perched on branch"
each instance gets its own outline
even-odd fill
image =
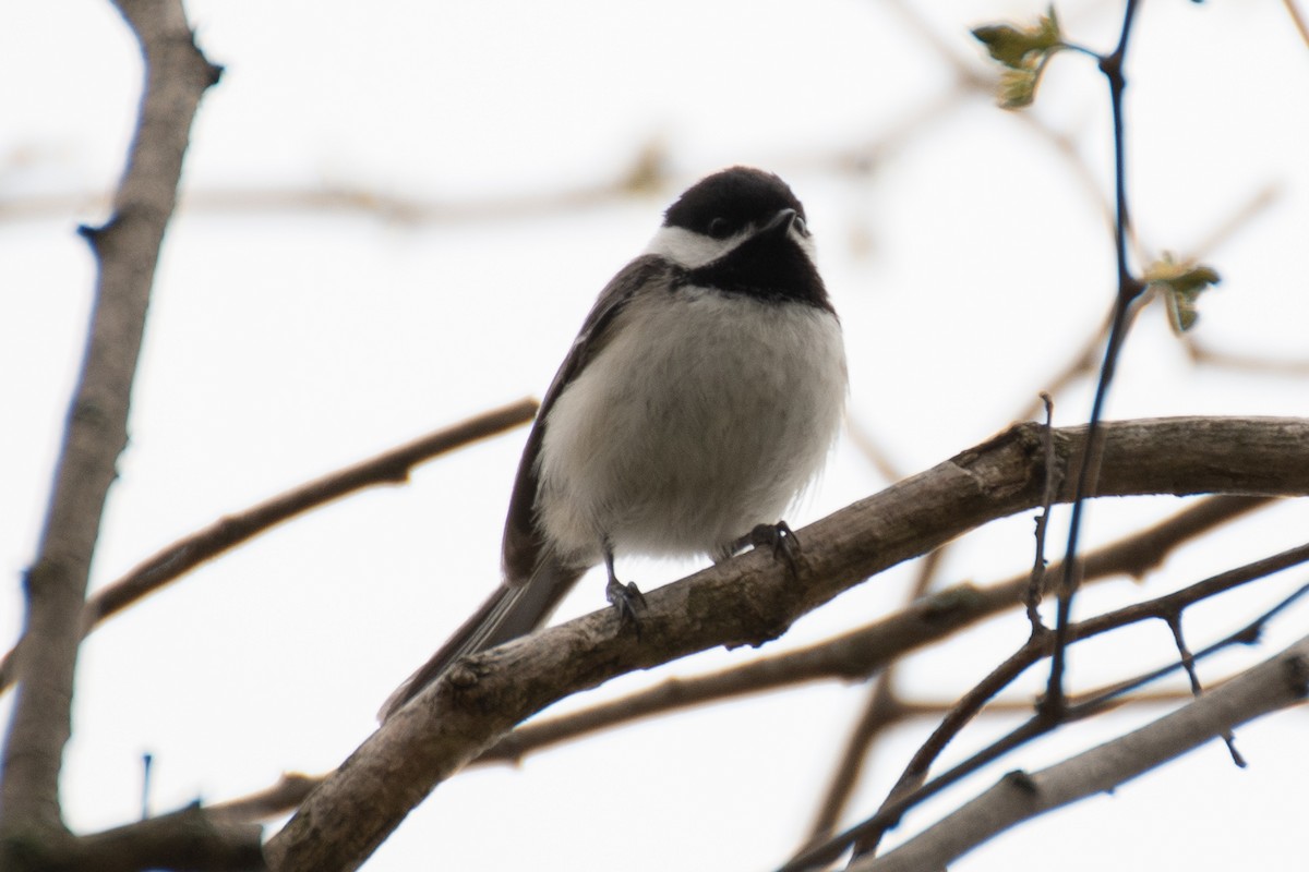
[[[600,293],[546,391],[509,498],[503,582],[386,701],[542,626],[590,567],[636,624],[615,554],[709,557],[771,543],[823,467],[848,392],[840,322],[804,205],[733,166],[687,188]]]

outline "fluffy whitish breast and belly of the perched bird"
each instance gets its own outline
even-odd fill
[[[562,552],[721,556],[818,472],[846,397],[830,311],[652,289],[546,418],[537,511]]]

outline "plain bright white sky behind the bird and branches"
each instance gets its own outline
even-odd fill
[[[920,4],[935,38],[987,72],[967,34],[1042,4]],[[103,584],[224,512],[462,417],[539,394],[594,294],[653,233],[686,183],[730,163],[780,173],[805,201],[842,312],[851,413],[905,473],[1007,425],[1107,311],[1113,260],[1096,200],[1025,119],[986,95],[942,101],[954,75],[886,3],[191,3],[226,67],[200,109],[166,239],[120,463],[97,553]],[[1118,4],[1059,7],[1093,47]],[[1182,254],[1261,191],[1271,205],[1204,252],[1223,273],[1196,339],[1225,352],[1309,358],[1309,64],[1278,3],[1145,4],[1128,61],[1131,197],[1141,242]],[[101,222],[139,99],[135,48],[106,3],[0,7],[0,642],[20,621],[85,326],[92,260],[73,234]],[[1033,116],[1072,137],[1107,195],[1105,89],[1093,64],[1054,63]],[[645,197],[470,217],[488,201],[605,186],[657,143],[675,180]],[[869,150],[869,146],[880,146]],[[846,171],[850,156],[872,171]],[[454,218],[258,208],[242,192],[350,190],[452,204]],[[217,208],[217,197],[245,207]],[[467,207],[467,208],[465,208]],[[461,212],[461,208],[463,209]],[[462,217],[461,217],[462,216]],[[1145,312],[1113,417],[1304,414],[1309,383],[1192,367]],[[1085,418],[1088,390],[1058,397]],[[322,771],[373,728],[391,688],[496,582],[500,524],[524,430],[428,464],[206,566],[82,648],[64,780],[77,829],[131,820],[139,758],[153,804],[229,799],[283,770]],[[843,444],[792,522],[885,486]],[[1089,541],[1177,501],[1094,506]],[[1177,554],[1144,588],[1089,591],[1088,609],[1155,595],[1302,541],[1289,505]],[[793,524],[795,526],[795,524]],[[945,582],[1030,563],[1030,518],[953,552]],[[1051,541],[1059,541],[1054,536]],[[643,587],[690,566],[628,562]],[[802,621],[764,654],[884,613],[899,569]],[[1288,573],[1198,611],[1192,647],[1304,580]],[[585,579],[562,614],[603,604]],[[1236,616],[1236,617],[1233,617]],[[1263,647],[1299,637],[1289,612]],[[914,658],[899,684],[950,699],[1011,652],[997,621]],[[1208,635],[1207,635],[1208,634]],[[1164,628],[1079,651],[1086,685],[1168,660]],[[754,652],[715,651],[592,698]],[[1028,684],[1020,692],[1030,692]],[[624,728],[442,784],[376,855],[381,872],[449,867],[761,869],[813,814],[863,693],[817,686]],[[571,703],[572,705],[572,703]],[[8,697],[0,699],[8,714]],[[1079,726],[952,792],[980,791],[1158,713]],[[988,719],[959,740],[979,746]],[[929,724],[880,746],[856,814],[870,812]],[[1291,868],[1304,714],[1237,733],[1138,784],[1022,828],[957,865],[1062,869]],[[932,807],[936,813],[941,805]],[[932,820],[928,809],[906,831]],[[1113,834],[1106,837],[1105,834]],[[1295,858],[1295,859],[1292,859]]]

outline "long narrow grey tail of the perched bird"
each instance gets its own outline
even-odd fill
[[[457,659],[493,648],[526,635],[550,620],[555,607],[581,578],[584,569],[565,567],[545,561],[524,584],[501,584],[467,621],[454,631],[418,672],[404,680],[377,713],[386,720],[432,684]]]

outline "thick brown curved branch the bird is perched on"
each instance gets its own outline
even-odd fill
[[[1059,499],[1085,428],[1056,430]],[[1309,493],[1309,421],[1164,418],[1103,428],[1097,495]],[[761,645],[842,591],[1038,505],[1041,428],[1017,425],[801,532],[798,577],[749,553],[647,595],[641,634],[611,611],[467,658],[386,722],[268,843],[279,872],[357,868],[441,780],[516,723],[618,675]]]

